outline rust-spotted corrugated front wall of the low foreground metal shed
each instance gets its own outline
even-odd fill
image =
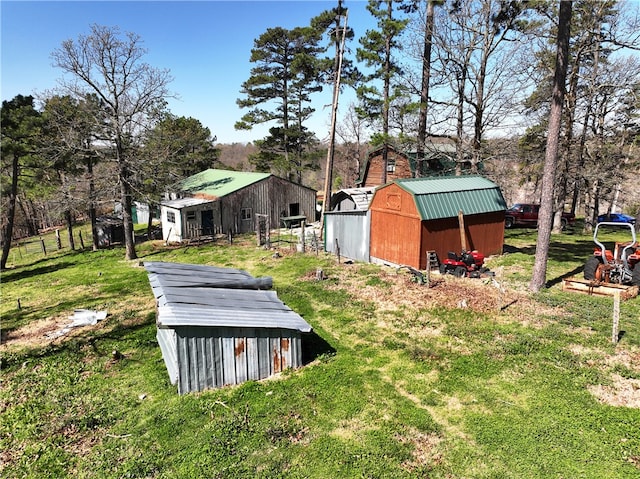
[[[185,326],[175,331],[180,394],[302,366],[301,335],[295,330]]]

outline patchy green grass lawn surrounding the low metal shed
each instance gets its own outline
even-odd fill
[[[553,236],[549,287],[534,295],[535,241],[506,232],[506,253],[488,260],[497,284],[434,275],[430,288],[394,268],[274,255],[252,236],[146,242],[136,261],[121,248],[14,255],[0,285],[0,475],[640,477],[640,298],[622,302],[613,344],[612,299],[561,287],[591,237]],[[142,261],[272,276],[314,328],[308,363],[179,396]],[[108,317],[47,337],[76,308]]]

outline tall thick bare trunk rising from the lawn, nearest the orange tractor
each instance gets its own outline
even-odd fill
[[[558,18],[558,40],[555,75],[553,79],[553,98],[549,114],[549,133],[542,175],[542,197],[538,216],[538,241],[533,265],[533,276],[529,289],[540,291],[547,280],[547,260],[553,225],[553,199],[555,193],[555,173],[558,163],[560,128],[562,126],[562,106],[564,103],[565,81],[569,57],[569,34],[571,28],[571,0],[560,1]]]

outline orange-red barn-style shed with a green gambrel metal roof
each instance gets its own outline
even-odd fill
[[[424,270],[427,251],[459,254],[460,211],[467,249],[501,254],[505,209],[498,185],[482,176],[395,180],[371,201],[371,261]]]

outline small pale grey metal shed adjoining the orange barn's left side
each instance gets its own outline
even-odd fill
[[[324,215],[324,249],[329,253],[369,262],[369,204],[374,188],[346,188],[331,197]]]

